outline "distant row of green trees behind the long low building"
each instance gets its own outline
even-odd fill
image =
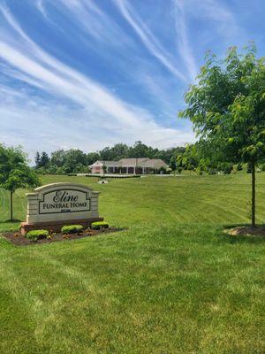
[[[133,146],[117,143],[111,148],[105,147],[100,151],[88,153],[78,149],[56,150],[49,156],[45,151],[37,151],[35,168],[40,173],[88,173],[88,166],[97,160],[118,161],[121,158],[161,158],[170,165],[172,157],[176,159],[185,150],[185,147],[159,150],[143,142],[135,142]]]

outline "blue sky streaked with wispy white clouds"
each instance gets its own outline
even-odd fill
[[[31,158],[193,142],[178,110],[205,52],[264,56],[264,34],[264,0],[0,0],[0,141]]]

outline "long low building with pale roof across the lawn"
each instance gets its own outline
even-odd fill
[[[119,161],[95,161],[89,166],[92,173],[147,174],[169,166],[160,158],[122,158]],[[104,171],[105,170],[105,171]]]

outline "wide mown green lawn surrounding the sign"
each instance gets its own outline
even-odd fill
[[[250,175],[146,177],[98,185],[125,232],[15,247],[0,238],[0,353],[264,353],[265,240],[249,222]],[[265,173],[257,217],[265,219]],[[0,229],[8,195],[0,190]],[[15,217],[25,219],[25,191]]]

